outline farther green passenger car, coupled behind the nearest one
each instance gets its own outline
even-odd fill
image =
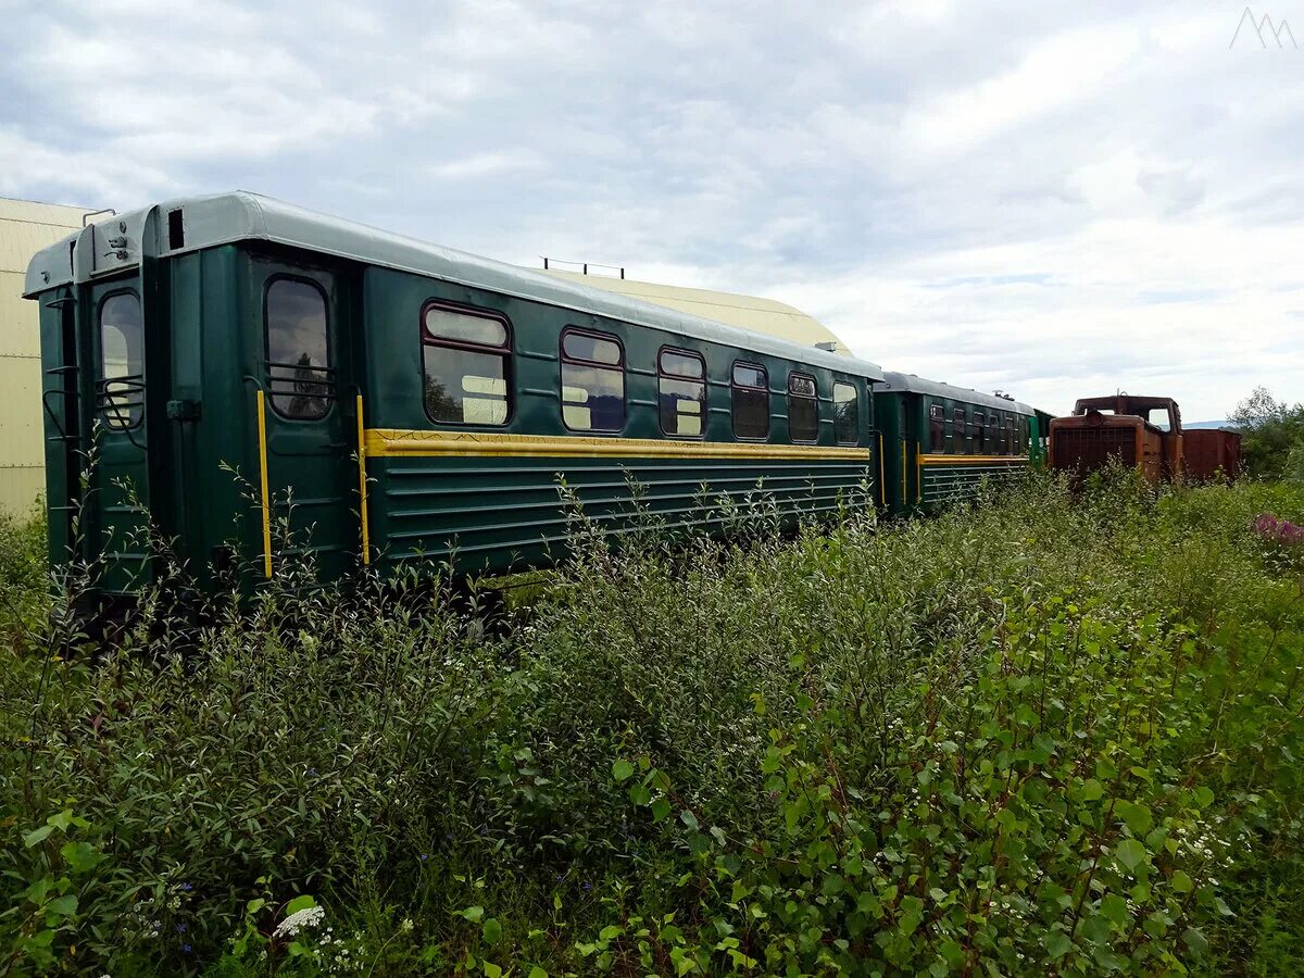
[[[1017,400],[888,372],[874,387],[884,506],[935,511],[1042,458],[1045,425]]]

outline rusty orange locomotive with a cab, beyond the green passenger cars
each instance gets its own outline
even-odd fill
[[[1111,458],[1134,466],[1149,482],[1181,473],[1181,411],[1172,398],[1082,398],[1068,417],[1051,420],[1051,468],[1074,479]]]

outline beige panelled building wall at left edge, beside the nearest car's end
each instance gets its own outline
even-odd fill
[[[22,279],[31,256],[80,228],[82,214],[0,197],[0,509],[12,512],[46,488],[39,317]]]

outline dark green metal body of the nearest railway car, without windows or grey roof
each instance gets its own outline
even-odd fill
[[[707,442],[735,441],[729,378],[738,359],[769,372],[771,443],[789,442],[786,379],[790,369],[798,369],[816,379],[818,443],[835,446],[836,379],[858,390],[857,445],[876,447],[870,382],[879,373],[848,357],[729,327],[716,330],[679,314],[668,314],[660,325],[629,322],[587,305],[557,305],[265,237],[158,256],[159,248],[150,244],[155,216],[128,215],[124,223],[142,230],[138,263],[115,261],[107,274],[78,274],[77,249],[89,244],[77,236],[68,280],[51,276],[50,286],[34,293],[42,304],[51,407],[48,493],[52,515],[61,514],[51,520],[51,554],[57,562],[73,556],[99,561],[106,595],[129,593],[147,582],[154,546],[167,546],[201,587],[215,585],[227,566],[241,569],[246,587],[261,576],[262,456],[256,404],[258,390],[269,383],[263,301],[278,276],[310,280],[329,296],[335,373],[325,417],[283,417],[270,404],[266,411],[275,559],[310,558],[326,578],[349,572],[361,557],[357,395],[364,398],[369,429],[439,428],[426,417],[422,402],[420,313],[430,300],[497,312],[511,323],[511,421],[482,430],[571,434],[561,420],[558,343],[565,327],[580,326],[610,333],[625,346],[627,422],[612,438],[664,437],[655,366],[657,351],[674,346],[699,351],[707,360]],[[52,254],[46,261],[57,258]],[[107,295],[124,289],[141,297],[147,336],[145,419],[130,432],[104,428],[104,412],[95,400],[100,379],[95,313]],[[626,309],[622,300],[612,310]],[[95,464],[89,469],[89,492],[78,501],[89,454]],[[795,519],[832,512],[841,501],[855,503],[863,494],[876,497],[876,462],[874,455],[863,463],[373,458],[368,460],[368,512],[382,571],[413,561],[450,559],[463,571],[496,571],[559,556],[567,529],[562,481],[588,515],[619,531],[631,506],[630,480],[644,486],[639,505],[670,526],[702,523],[721,497],[742,502],[758,486],[769,503]],[[73,554],[70,514],[78,505],[81,549]]]

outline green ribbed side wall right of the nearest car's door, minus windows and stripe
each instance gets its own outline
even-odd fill
[[[786,416],[788,370],[798,368],[816,378],[820,413],[819,445],[835,446],[832,385],[852,382],[859,391],[861,447],[872,447],[872,402],[866,378],[850,370],[798,364],[759,353],[746,346],[705,343],[668,330],[647,329],[572,309],[539,305],[424,276],[368,269],[363,274],[369,348],[386,351],[368,363],[365,387],[369,428],[430,429],[421,400],[421,347],[417,318],[426,301],[439,300],[502,313],[514,326],[516,399],[506,428],[472,430],[565,437],[558,391],[558,338],[567,326],[617,336],[626,369],[629,438],[662,438],[657,420],[657,352],[662,346],[695,349],[707,361],[705,441],[733,443],[730,373],[734,360],[765,366],[771,387],[771,438],[789,443]],[[526,327],[528,323],[528,329]],[[835,360],[833,363],[840,363]],[[587,434],[587,433],[585,433]],[[583,511],[619,526],[630,510],[627,480],[642,484],[640,502],[670,526],[700,523],[717,501],[735,502],[756,492],[758,484],[789,512],[828,514],[838,498],[852,502],[867,486],[876,496],[872,460],[715,460],[704,466],[687,459],[647,459],[614,464],[604,459],[549,458],[385,458],[369,462],[372,537],[381,565],[412,559],[446,561],[452,552],[467,569],[505,570],[546,562],[559,553],[567,532],[558,505],[559,479],[574,492]]]

